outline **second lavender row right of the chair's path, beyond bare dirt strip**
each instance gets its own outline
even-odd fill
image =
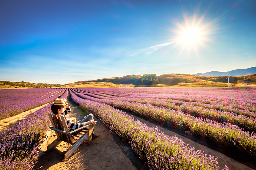
[[[206,137],[229,147],[237,147],[251,156],[256,156],[256,135],[244,132],[236,125],[218,123],[208,119],[194,118],[189,114],[180,111],[155,107],[150,104],[130,103],[116,100],[103,100],[76,93],[79,97],[89,99],[104,104],[109,104],[119,109],[134,112],[136,114],[152,118],[159,122],[173,125],[184,131],[190,130],[192,133]]]

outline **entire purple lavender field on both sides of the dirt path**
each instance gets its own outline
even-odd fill
[[[10,117],[19,114],[17,110],[35,108],[68,95],[128,143],[149,169],[219,169],[219,162],[217,157],[189,147],[176,136],[165,135],[135,120],[132,114],[256,157],[256,88],[1,90],[0,115]],[[26,103],[31,103],[29,108]],[[33,168],[40,140],[50,126],[50,106],[51,103],[1,133],[1,169]]]

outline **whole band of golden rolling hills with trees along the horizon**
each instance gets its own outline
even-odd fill
[[[256,74],[229,76],[230,86],[256,86]],[[127,75],[90,81],[60,84],[0,81],[0,88],[108,88],[108,87],[227,87],[226,76],[198,76],[191,74]]]

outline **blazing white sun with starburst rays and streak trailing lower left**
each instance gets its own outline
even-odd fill
[[[200,50],[209,48],[207,44],[214,41],[212,34],[216,33],[219,28],[216,24],[218,18],[209,21],[209,19],[205,19],[205,15],[198,16],[199,14],[194,12],[192,16],[183,13],[182,20],[170,18],[169,21],[174,28],[166,28],[166,30],[172,33],[171,39],[161,44],[136,50],[128,57],[138,54],[149,55],[155,51],[160,51],[161,54],[168,56],[169,51],[174,50],[174,53],[178,54],[176,58],[180,58],[182,55],[186,58],[195,56],[200,59]],[[176,50],[178,50],[178,53]],[[184,53],[186,55],[183,55]]]

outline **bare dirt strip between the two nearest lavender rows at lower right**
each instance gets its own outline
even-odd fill
[[[129,112],[127,112],[127,113],[131,114]],[[132,115],[134,116],[134,119],[137,119],[137,120],[141,121],[142,123],[147,124],[148,126],[151,126],[151,127],[152,126],[154,126],[154,127],[157,126],[158,129],[160,129],[161,132],[164,132],[164,134],[167,134],[169,136],[177,136],[178,138],[182,138],[182,140],[185,143],[189,144],[189,146],[191,146],[191,147],[194,147],[196,150],[202,150],[202,151],[204,150],[204,153],[207,154],[207,155],[217,156],[218,157],[218,161],[219,161],[219,166],[220,166],[219,169],[223,169],[225,165],[227,165],[229,167],[229,169],[236,169],[236,170],[250,170],[250,169],[252,169],[252,168],[250,168],[250,167],[248,167],[248,166],[246,166],[246,165],[244,165],[242,163],[239,163],[239,162],[231,159],[230,157],[228,157],[228,156],[226,156],[226,155],[224,155],[224,154],[222,154],[222,153],[220,153],[218,151],[215,151],[215,150],[213,150],[211,148],[203,146],[203,145],[201,145],[201,144],[199,144],[197,142],[194,142],[194,141],[192,141],[192,140],[190,140],[190,139],[188,139],[188,138],[186,138],[186,137],[184,137],[182,135],[179,135],[179,134],[177,134],[175,132],[167,130],[167,129],[163,128],[163,127],[155,125],[154,123],[152,123],[150,121],[147,121],[147,120],[145,120],[143,118],[140,118],[140,117],[136,116],[135,114],[132,114]]]

